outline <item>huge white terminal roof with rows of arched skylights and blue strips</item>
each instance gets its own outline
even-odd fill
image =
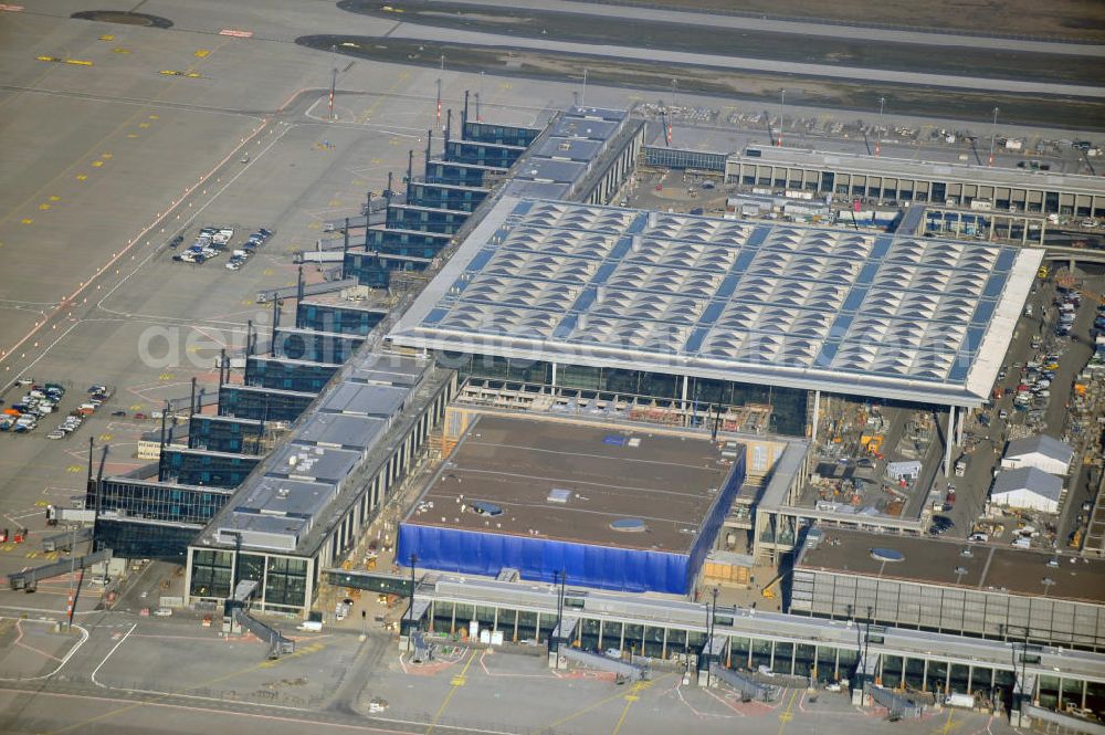
[[[989,392],[1042,258],[509,196],[484,224],[397,344],[962,406]]]

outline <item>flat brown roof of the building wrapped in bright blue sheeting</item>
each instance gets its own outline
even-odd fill
[[[481,414],[407,523],[685,554],[732,470],[705,438]]]

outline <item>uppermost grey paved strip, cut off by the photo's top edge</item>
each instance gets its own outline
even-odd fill
[[[471,6],[492,4],[487,0],[445,0],[451,4]],[[838,25],[833,23],[815,23],[790,20],[769,20],[767,18],[747,18],[740,15],[722,15],[715,13],[693,13],[678,10],[661,10],[659,8],[625,8],[621,6],[591,4],[570,2],[569,0],[504,0],[495,2],[496,9],[526,8],[534,10],[557,11],[598,15],[602,18],[624,19],[632,14],[638,20],[655,20],[665,23],[682,23],[686,25],[707,25],[711,28],[733,28],[745,31],[766,31],[770,33],[792,33],[796,35],[823,35],[836,39],[853,39],[862,41],[888,41],[892,43],[914,43],[934,46],[969,46],[971,49],[994,49],[1000,51],[1031,51],[1034,53],[1076,54],[1082,56],[1105,56],[1105,44],[1091,43],[1057,43],[1052,41],[1033,41],[1029,39],[992,38],[985,35],[968,35],[955,33],[928,33],[924,31],[892,30],[885,28],[869,28],[862,25]]]

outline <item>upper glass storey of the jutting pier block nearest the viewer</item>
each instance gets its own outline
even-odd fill
[[[86,501],[87,507],[175,523],[207,523],[231,496],[217,487],[183,487],[125,477],[105,477],[92,486],[95,490]]]

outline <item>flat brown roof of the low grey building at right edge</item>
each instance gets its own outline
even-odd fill
[[[929,585],[968,587],[1014,595],[1055,597],[1086,602],[1105,602],[1105,561],[1060,556],[1059,566],[1049,566],[1054,554],[1015,549],[990,544],[917,536],[888,536],[860,531],[824,528],[818,548],[806,548],[798,568],[838,571],[899,579]],[[872,557],[873,548],[899,552],[902,561],[883,564]],[[962,550],[970,548],[971,555]],[[1073,561],[1072,561],[1073,559]],[[962,576],[956,573],[962,568]],[[1050,579],[1053,584],[1044,585]]]

